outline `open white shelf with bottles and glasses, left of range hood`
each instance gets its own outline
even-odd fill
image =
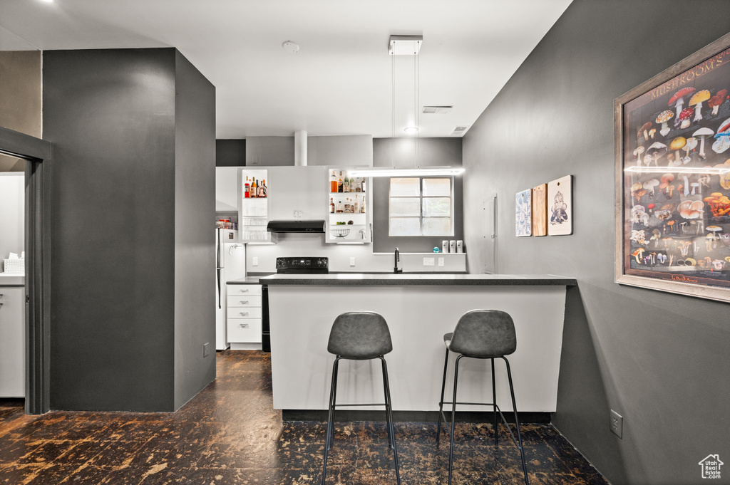
[[[239,209],[239,236],[243,243],[273,243],[276,234],[269,233],[269,194],[266,180],[268,173],[264,169],[247,169],[241,171],[242,199]]]

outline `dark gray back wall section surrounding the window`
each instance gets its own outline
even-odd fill
[[[420,167],[461,167],[461,146],[461,138],[374,138],[372,165],[413,168],[418,159]],[[454,178],[454,235],[434,237],[388,236],[390,179],[375,177],[372,180],[373,252],[393,252],[396,247],[401,252],[431,252],[434,247],[440,248],[444,239],[464,239],[463,177]]]

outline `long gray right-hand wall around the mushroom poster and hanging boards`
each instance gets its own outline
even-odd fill
[[[702,483],[700,460],[730,458],[730,306],[613,281],[613,101],[727,34],[729,18],[725,0],[575,0],[464,136],[465,220],[499,195],[499,271],[578,281],[553,424],[612,484]],[[515,193],[568,174],[573,235],[516,238]],[[477,228],[465,237],[480,272]]]

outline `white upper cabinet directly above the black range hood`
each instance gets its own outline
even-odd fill
[[[325,219],[323,187],[326,168],[319,166],[270,167],[271,220]]]

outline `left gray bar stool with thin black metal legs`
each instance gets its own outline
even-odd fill
[[[335,354],[332,367],[332,385],[329,392],[329,414],[327,419],[327,435],[324,447],[324,466],[322,470],[322,485],[327,478],[327,455],[334,441],[334,409],[337,406],[385,406],[385,419],[388,430],[388,446],[393,449],[393,459],[396,463],[396,481],[401,483],[398,469],[398,449],[396,447],[395,428],[393,427],[393,413],[391,408],[391,388],[388,384],[388,366],[385,357],[393,350],[391,332],[385,319],[372,311],[352,311],[343,313],[334,319],[332,330],[329,333],[327,352]],[[380,359],[383,364],[383,387],[385,403],[367,404],[337,404],[337,370],[339,361]]]

